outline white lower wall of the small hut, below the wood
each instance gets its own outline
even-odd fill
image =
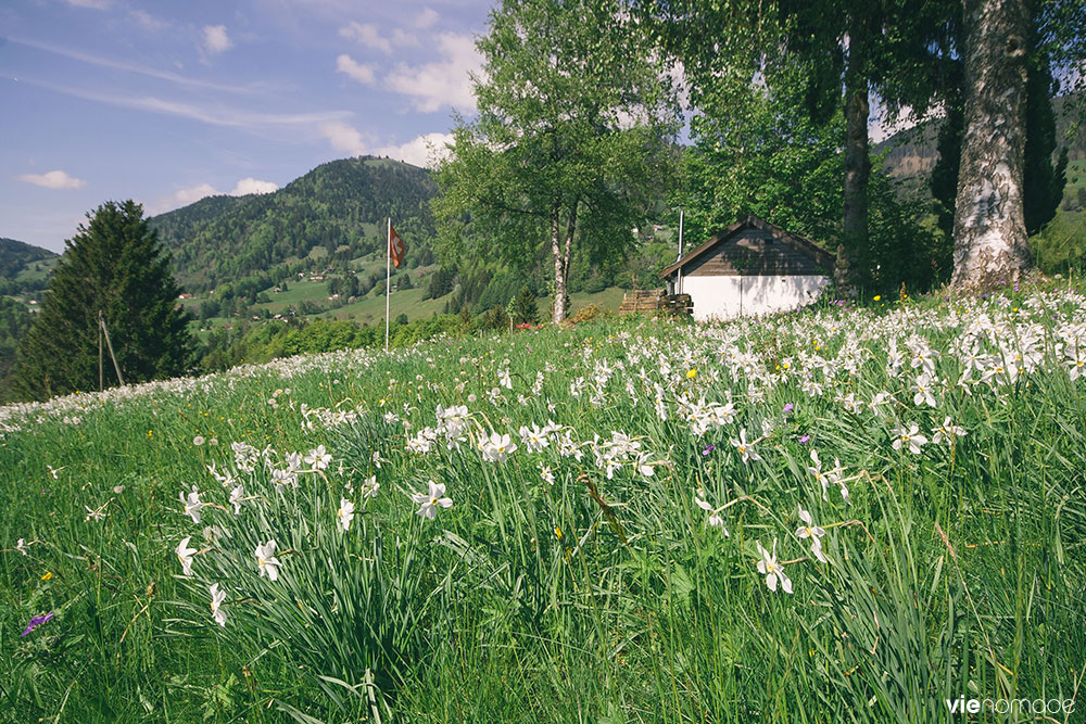
[[[683,277],[682,291],[694,302],[694,319],[733,319],[783,312],[810,304],[830,278],[821,275],[786,277]]]

